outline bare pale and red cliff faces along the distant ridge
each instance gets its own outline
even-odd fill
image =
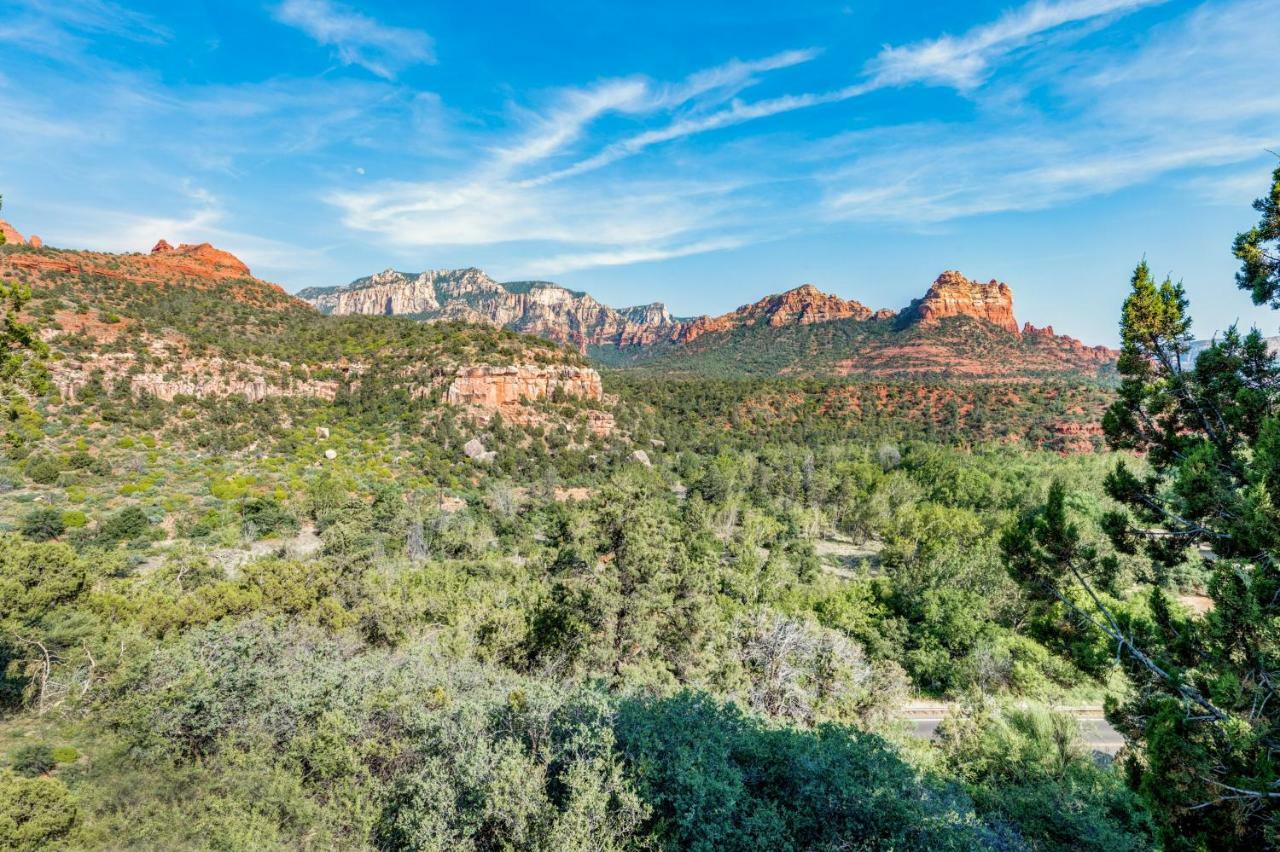
[[[700,338],[709,338],[700,345],[718,344],[721,338],[709,335],[739,329],[897,321],[892,327],[904,334],[877,333],[869,351],[837,361],[836,372],[858,371],[868,365],[876,371],[908,374],[945,371],[982,376],[1002,375],[1009,370],[1016,372],[1019,365],[988,363],[983,358],[974,361],[969,352],[972,347],[961,339],[952,339],[956,335],[963,338],[966,334],[963,329],[932,330],[931,326],[941,326],[950,317],[969,317],[989,325],[992,331],[1004,333],[1009,338],[1007,345],[1019,347],[1018,359],[1028,362],[1021,366],[1034,362],[1037,370],[1094,371],[1115,358],[1115,353],[1105,347],[1085,347],[1079,340],[1056,335],[1052,329],[1019,326],[1014,319],[1014,294],[1007,284],[970,280],[954,270],[942,272],[924,297],[914,299],[901,312],[887,308],[872,311],[861,302],[804,284],[719,316],[677,319],[660,303],[612,308],[586,293],[549,281],[499,284],[477,269],[434,270],[417,275],[387,270],[347,287],[314,288],[298,296],[328,313],[485,322],[548,338],[581,352],[591,347],[639,349],[658,344],[676,347],[672,349],[676,352]],[[913,334],[906,334],[913,329]],[[724,343],[753,345],[748,340],[731,343],[724,339]],[[824,353],[814,354],[820,358]],[[961,363],[961,358],[969,361]]]

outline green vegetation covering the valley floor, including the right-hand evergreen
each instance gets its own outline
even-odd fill
[[[716,414],[776,380],[609,375],[611,438],[376,381],[60,400],[68,294],[0,293],[0,848],[1276,842],[1276,366],[1233,334],[1183,370],[1144,267],[1114,450],[1071,455]],[[913,700],[955,707],[932,742]],[[1114,761],[1052,709],[1103,701]]]

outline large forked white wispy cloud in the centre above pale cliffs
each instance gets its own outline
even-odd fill
[[[676,83],[644,77],[605,79],[554,92],[541,111],[520,109],[522,132],[493,146],[460,177],[381,182],[343,189],[328,201],[355,230],[379,234],[404,248],[557,243],[575,247],[530,261],[529,274],[682,257],[741,244],[741,237],[709,237],[733,226],[749,205],[732,201],[741,184],[707,175],[682,180],[611,178],[590,192],[562,185],[570,173],[547,164],[588,139],[608,114],[631,118],[723,104],[768,72],[810,61],[817,50],[790,50],[756,60],[731,60]],[[712,113],[714,114],[714,111]],[[696,115],[690,120],[699,119]],[[524,177],[532,171],[531,177]]]

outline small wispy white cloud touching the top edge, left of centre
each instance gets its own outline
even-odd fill
[[[333,47],[342,63],[385,79],[402,68],[435,61],[434,41],[425,32],[380,23],[330,0],[284,0],[275,18]]]

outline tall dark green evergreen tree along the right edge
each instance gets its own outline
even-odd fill
[[[1280,170],[1271,201],[1280,197]],[[1267,230],[1258,232],[1265,238]],[[1239,253],[1239,252],[1238,252]],[[1256,256],[1251,256],[1254,257]],[[1245,257],[1244,275],[1256,279]],[[1270,298],[1271,290],[1254,290]],[[1260,299],[1262,301],[1262,299]],[[1014,576],[1073,628],[1103,633],[1133,684],[1110,718],[1138,746],[1134,784],[1169,848],[1280,842],[1280,366],[1257,330],[1234,327],[1187,362],[1181,287],[1146,262],[1121,319],[1119,399],[1103,420],[1114,448],[1144,454],[1106,478],[1120,504],[1103,519],[1120,554],[1143,558],[1149,618],[1105,591],[1116,556],[1085,541],[1055,485],[1004,541]],[[1204,560],[1213,610],[1178,615],[1165,581]]]

